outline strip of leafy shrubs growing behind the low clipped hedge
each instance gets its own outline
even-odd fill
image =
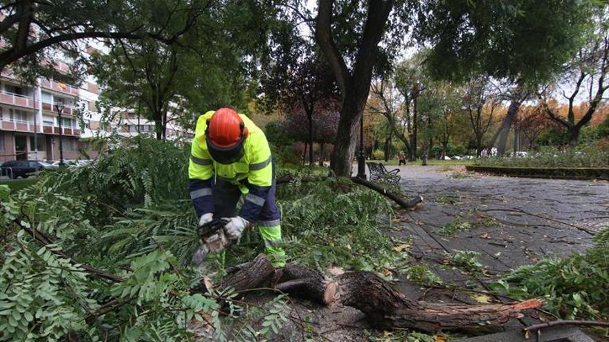
[[[600,151],[595,146],[581,149],[540,149],[528,157],[481,158],[477,165],[487,167],[608,167],[609,151]]]

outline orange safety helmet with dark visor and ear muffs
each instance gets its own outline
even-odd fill
[[[247,136],[245,123],[231,108],[220,108],[207,120],[207,148],[212,158],[220,164],[233,164],[243,157],[243,142]]]

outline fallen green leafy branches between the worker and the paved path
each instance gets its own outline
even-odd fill
[[[345,180],[296,180],[278,190],[287,254],[298,256],[298,263],[377,271],[399,264],[377,222],[391,212],[378,193]]]

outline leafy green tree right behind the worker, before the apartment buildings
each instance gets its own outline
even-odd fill
[[[142,108],[143,116],[155,123],[157,139],[165,138],[171,120],[192,127],[196,122],[193,113],[243,104],[242,59],[249,50],[236,47],[241,32],[222,28],[231,27],[230,22],[222,21],[234,14],[230,4],[208,3],[201,14],[207,24],[192,26],[172,46],[149,38],[118,39],[109,53],[96,55],[91,71],[104,88],[104,103],[109,108]],[[156,12],[157,21],[146,23],[147,30],[158,30],[158,26],[181,29],[188,12],[172,15],[174,1],[157,0],[155,5],[150,10]],[[246,10],[239,8],[241,15],[243,12]]]

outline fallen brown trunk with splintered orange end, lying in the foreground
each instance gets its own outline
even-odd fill
[[[239,265],[236,274],[225,278],[222,286],[233,282],[241,290],[245,282],[260,287],[271,274],[261,269],[266,257],[259,255],[252,263]],[[288,264],[278,269],[271,279],[271,286],[278,292],[300,298],[308,298],[322,304],[355,307],[363,312],[372,327],[378,329],[408,328],[424,332],[480,332],[498,330],[510,319],[524,316],[524,310],[543,305],[531,299],[514,304],[457,305],[413,301],[392,284],[371,272],[347,272],[329,281],[318,272],[306,267]]]

